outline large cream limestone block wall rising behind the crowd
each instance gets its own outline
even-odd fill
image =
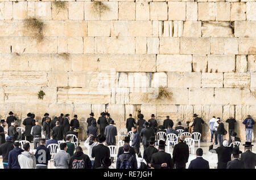
[[[255,0],[0,0],[0,115],[256,119]],[[44,24],[43,40],[26,19]],[[171,99],[147,101],[166,87]],[[46,93],[43,100],[38,92]],[[209,125],[203,125],[209,140]],[[227,125],[225,123],[225,127]],[[84,137],[84,136],[83,136]]]

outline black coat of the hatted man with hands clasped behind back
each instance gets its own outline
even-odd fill
[[[161,167],[163,163],[167,163],[167,167]],[[173,169],[174,162],[172,156],[164,151],[156,152],[152,155],[151,166],[155,169]]]

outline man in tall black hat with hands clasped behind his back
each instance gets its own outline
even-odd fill
[[[152,155],[151,167],[155,169],[173,169],[174,162],[172,162],[172,156],[169,153],[164,152],[166,148],[166,142],[159,141],[158,150]]]

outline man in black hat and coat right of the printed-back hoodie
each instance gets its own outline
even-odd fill
[[[105,140],[106,136],[104,134],[100,134],[97,136],[98,145],[94,146],[92,149],[92,157],[95,157],[93,169],[99,168],[102,165],[101,159],[103,157],[110,157],[110,150],[104,145]]]

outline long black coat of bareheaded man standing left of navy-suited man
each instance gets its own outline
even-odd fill
[[[177,143],[174,146],[174,151],[172,152],[172,160],[174,164],[184,165],[188,162],[189,148],[184,142]]]

